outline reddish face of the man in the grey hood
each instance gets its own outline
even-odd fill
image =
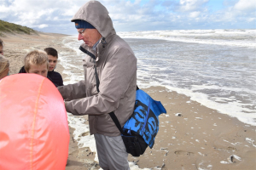
[[[85,29],[84,28],[79,28],[77,29],[79,32],[79,40],[83,40],[84,43],[92,48],[92,46],[101,39],[102,35],[97,31],[96,29]],[[84,30],[84,31],[83,31]],[[83,31],[83,32],[81,32]]]

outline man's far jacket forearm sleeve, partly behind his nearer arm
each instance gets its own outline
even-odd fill
[[[66,86],[57,87],[61,96],[66,101],[72,99],[81,99],[86,97],[84,81],[80,81],[74,84],[68,84]]]

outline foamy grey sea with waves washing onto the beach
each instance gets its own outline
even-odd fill
[[[128,42],[137,57],[139,88],[165,87],[221,114],[236,117],[247,126],[256,126],[255,29],[126,31],[117,34]],[[65,68],[63,73],[68,75],[64,84],[83,80],[81,59],[84,54],[79,51],[82,42],[70,36],[62,43],[75,50],[73,54],[61,52],[59,57]],[[77,129],[75,138],[84,147],[89,139],[81,139],[79,131],[89,128],[83,127],[84,120],[80,117],[69,114],[68,119],[70,126]],[[91,147],[91,150],[96,148]],[[130,163],[131,169],[140,169]]]

